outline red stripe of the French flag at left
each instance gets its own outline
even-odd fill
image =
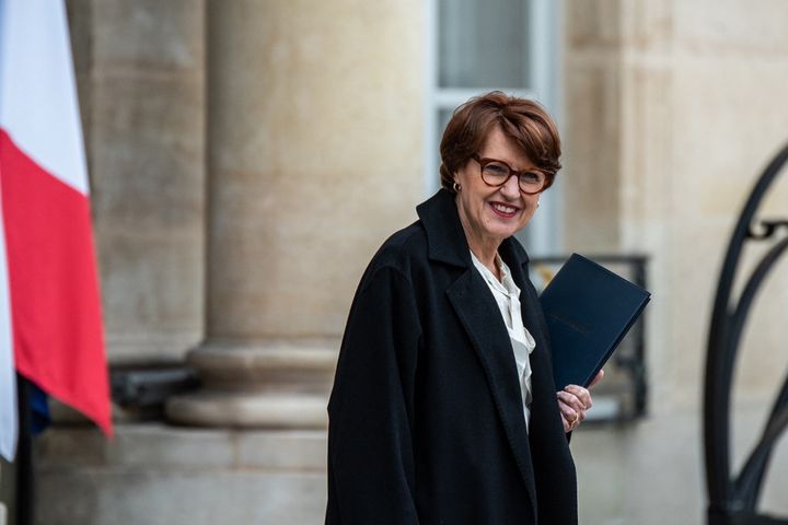
[[[3,129],[0,165],[16,369],[112,435],[90,200]]]

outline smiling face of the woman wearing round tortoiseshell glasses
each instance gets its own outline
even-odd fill
[[[512,170],[535,167],[517,143],[497,126],[476,154],[482,159],[503,161]],[[517,177],[510,177],[503,186],[497,188],[487,186],[479,175],[478,162],[473,159],[454,174],[454,182],[462,186],[456,205],[472,249],[493,244],[497,249],[505,238],[524,228],[536,211],[538,195],[521,192]]]

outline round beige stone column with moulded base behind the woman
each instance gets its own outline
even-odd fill
[[[176,422],[324,428],[363,266],[421,187],[419,2],[208,3],[205,380]]]

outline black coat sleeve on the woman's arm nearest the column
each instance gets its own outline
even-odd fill
[[[398,270],[368,275],[354,300],[328,404],[326,524],[417,524],[413,393],[421,329]]]

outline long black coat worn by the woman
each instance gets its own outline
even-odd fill
[[[577,523],[575,465],[528,255],[499,254],[536,340],[530,433],[511,341],[440,190],[361,278],[328,404],[326,524]]]

